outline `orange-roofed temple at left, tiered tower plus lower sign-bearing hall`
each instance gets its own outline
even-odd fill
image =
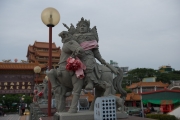
[[[42,83],[48,69],[49,43],[37,42],[28,46],[27,60],[0,62],[0,94],[33,93],[34,84]],[[52,68],[58,67],[61,50],[52,43]],[[35,73],[34,68],[40,67]]]

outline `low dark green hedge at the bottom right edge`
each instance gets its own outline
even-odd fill
[[[174,115],[167,114],[147,114],[146,117],[157,120],[177,120],[177,118]]]

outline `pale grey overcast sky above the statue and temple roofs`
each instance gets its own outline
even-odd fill
[[[96,26],[103,58],[120,67],[171,65],[180,70],[180,0],[1,0],[0,61],[27,60],[35,40],[48,42],[49,29],[41,13],[53,7],[61,19],[53,42],[62,47],[62,23],[76,25],[84,17]]]

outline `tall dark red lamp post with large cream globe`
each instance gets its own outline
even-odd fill
[[[52,68],[52,27],[56,26],[60,21],[59,12],[52,8],[46,8],[41,13],[42,22],[49,27],[49,70]],[[48,80],[48,116],[51,116],[51,83]]]

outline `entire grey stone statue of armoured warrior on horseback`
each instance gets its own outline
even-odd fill
[[[76,113],[78,99],[81,89],[95,90],[95,97],[91,103],[90,110],[94,109],[94,102],[97,97],[104,93],[114,95],[116,91],[121,93],[121,97],[126,97],[126,92],[121,87],[122,71],[105,62],[98,50],[98,35],[96,27],[89,28],[90,22],[81,19],[75,28],[72,24],[68,31],[59,34],[62,38],[62,51],[59,68],[51,69],[47,76],[51,81],[52,88],[57,95],[57,111],[65,110],[65,99],[68,93],[73,91],[71,107],[68,112]],[[99,65],[96,60],[104,65]],[[117,77],[113,79],[113,73]],[[106,83],[111,86],[107,89]]]

